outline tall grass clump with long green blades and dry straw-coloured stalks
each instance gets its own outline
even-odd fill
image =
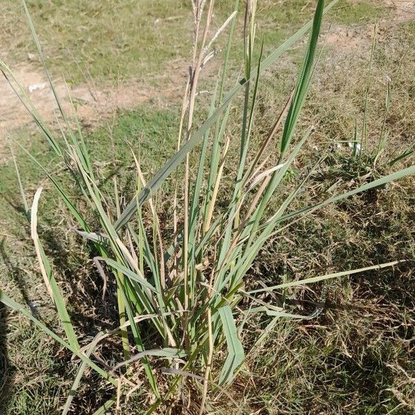
[[[235,8],[238,3],[235,3]],[[151,391],[151,399],[147,401],[148,412],[154,412],[162,405],[172,405],[174,401],[177,407],[191,407],[192,412],[203,413],[214,405],[215,397],[221,394],[239,407],[225,388],[243,370],[246,354],[255,352],[264,344],[268,334],[282,318],[309,320],[320,311],[320,307],[317,307],[309,315],[295,313],[290,303],[285,301],[288,291],[303,284],[398,264],[394,259],[387,264],[374,261],[375,265],[369,264],[357,270],[347,267],[340,273],[305,277],[300,281],[282,284],[270,282],[269,286],[250,281],[248,270],[259,252],[270,239],[282,234],[288,225],[331,203],[342,202],[349,196],[386,185],[413,174],[415,170],[414,167],[407,167],[359,183],[348,192],[335,194],[328,199],[319,196],[313,205],[295,208],[301,198],[302,186],[323,162],[323,158],[317,160],[308,171],[304,169],[299,173],[299,180],[294,181],[293,186],[286,186],[287,178],[295,170],[293,164],[299,151],[313,133],[313,128],[309,128],[302,137],[295,137],[315,64],[323,1],[317,4],[314,20],[265,59],[262,59],[262,45],[259,46],[257,67],[254,57],[256,3],[249,2],[244,19],[245,77],[225,94],[228,56],[236,16],[231,15],[228,20],[230,40],[225,49],[221,78],[212,93],[208,118],[199,128],[194,122],[195,104],[199,75],[213,56],[208,47],[208,35],[214,2],[193,2],[192,5],[195,34],[193,59],[179,120],[177,152],[146,183],[140,154],[131,151],[136,169],[136,181],[133,184],[136,196],[130,203],[122,199],[124,194],[120,190],[124,190],[124,186],[116,176],[113,177],[111,188],[103,185],[82,134],[71,129],[63,111],[62,137],[56,138],[37,116],[35,109],[31,109],[50,147],[77,183],[79,199],[90,209],[91,214],[86,216],[57,178],[45,172],[77,221],[78,233],[91,242],[93,263],[104,281],[104,294],[108,291],[105,287],[112,284],[115,293],[111,293],[116,296],[120,320],[118,329],[103,331],[92,342],[80,344],[72,316],[66,311],[65,300],[55,282],[53,268],[42,248],[42,241],[37,237],[37,202],[41,195],[41,190],[37,190],[30,209],[31,234],[46,287],[49,287],[50,297],[57,306],[66,338],[50,331],[43,322],[6,294],[1,293],[0,299],[6,306],[30,318],[81,360],[64,413],[71,407],[72,397],[86,368],[95,371],[116,389],[114,397],[103,408],[112,405],[120,407],[123,396],[130,396],[140,387],[143,378],[147,390]],[[204,18],[203,6],[207,8]],[[333,3],[329,8],[332,6]],[[261,73],[309,29],[311,35],[295,90],[286,99],[268,135],[257,149],[252,149],[250,140],[256,122]],[[37,46],[42,53],[38,42]],[[2,67],[10,82],[16,85],[8,68],[5,65]],[[28,103],[18,85],[16,89],[22,100]],[[240,137],[237,143],[238,161],[234,167],[228,163],[230,147],[234,145],[228,130],[228,120],[230,103],[239,92],[244,95],[241,124],[237,129]],[[273,139],[280,126],[281,138],[275,144]],[[277,149],[276,163],[273,164],[268,163],[267,157],[271,145]],[[194,166],[190,158],[192,149],[199,150],[196,157],[198,163]],[[37,163],[34,157],[33,161]],[[169,177],[174,178],[169,183],[173,197],[163,201],[157,191]],[[226,183],[226,187],[223,183]],[[222,196],[219,198],[220,193]],[[179,196],[181,194],[183,199]],[[275,196],[281,198],[280,204],[277,210],[269,214],[270,201]],[[24,205],[26,214],[29,214],[28,202]],[[163,216],[160,216],[160,211]],[[90,219],[91,216],[93,219]],[[166,221],[169,225],[163,226],[162,223]],[[280,294],[272,295],[275,291]],[[273,296],[272,301],[268,295]],[[271,317],[268,325],[259,333],[253,346],[244,349],[240,339],[244,327],[264,316]],[[98,344],[113,337],[119,339],[122,361],[95,359],[94,352]],[[137,376],[131,369],[136,367],[138,361],[141,373]]]

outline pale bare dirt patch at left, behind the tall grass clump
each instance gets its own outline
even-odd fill
[[[23,86],[30,100],[46,122],[53,122],[57,113],[57,103],[46,80],[42,68],[25,63],[13,68],[15,77]],[[109,118],[118,109],[133,109],[150,100],[172,101],[181,93],[183,87],[178,80],[169,82],[169,89],[151,89],[143,87],[136,80],[122,82],[118,86],[97,88],[82,84],[67,87],[62,80],[53,80],[64,111],[73,113],[71,98],[76,107],[77,118],[87,127]],[[32,121],[6,77],[0,77],[0,156],[6,143],[6,132],[24,127]]]

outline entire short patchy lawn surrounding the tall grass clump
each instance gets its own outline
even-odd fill
[[[105,91],[108,99],[111,98],[109,91],[120,85],[127,86],[125,93],[128,94],[130,84],[145,86],[151,95],[145,101],[132,100],[126,106],[101,111],[93,122],[89,122],[88,115],[82,118],[86,147],[102,197],[107,199],[109,209],[116,209],[112,197],[116,181],[118,194],[123,195],[120,203],[124,206],[137,187],[129,145],[139,155],[147,180],[176,151],[181,93],[191,56],[190,1],[33,0],[27,3],[54,79],[64,77],[73,91],[78,86],[93,84],[98,91]],[[210,35],[230,15],[232,3],[216,1]],[[257,44],[264,36],[264,56],[311,19],[315,3],[258,1]],[[311,125],[314,132],[286,172],[281,193],[275,194],[266,206],[270,214],[308,173],[310,177],[297,194],[293,210],[414,165],[415,25],[412,17],[415,11],[410,5],[405,8],[397,3],[340,1],[325,17],[320,36],[320,45],[324,47],[293,139],[297,142]],[[0,21],[5,30],[1,35],[1,58],[11,68],[23,65],[40,71],[19,2],[2,0],[2,6]],[[243,17],[240,16],[230,50],[227,89],[243,77],[242,31]],[[224,48],[225,36],[219,37],[215,45],[218,50]],[[261,146],[295,84],[304,48],[305,41],[295,44],[284,59],[261,77],[251,137],[254,150]],[[252,56],[254,62],[259,55],[257,48]],[[202,72],[201,90],[207,92],[197,97],[201,109],[194,114],[196,127],[208,116],[220,59],[221,54],[214,57]],[[164,93],[167,89],[175,92]],[[230,107],[227,136],[239,134],[242,104],[240,96]],[[51,125],[53,131],[57,130],[55,122],[51,121]],[[91,214],[82,192],[65,171],[62,159],[50,151],[33,125],[21,122],[7,135],[1,134],[5,143],[6,137],[12,138],[21,182],[30,204],[37,188],[44,187],[39,204],[39,237],[53,264],[79,341],[82,345],[88,344],[100,330],[118,326],[116,284],[109,281],[106,297],[102,299],[103,282],[92,261],[93,248],[75,232],[77,223],[68,214],[45,172],[33,163],[26,151],[57,178],[96,228],[100,221]],[[356,152],[355,147],[353,152],[351,142],[356,135],[362,142],[360,150]],[[270,165],[278,160],[277,144],[273,145],[269,152]],[[30,306],[33,315],[62,335],[30,237],[15,164],[7,145],[1,146],[0,290],[20,304]],[[190,154],[192,179],[196,177],[199,151],[200,147],[196,147]],[[400,158],[402,154],[405,157]],[[239,137],[230,140],[217,212],[227,206],[230,196],[227,186],[233,183],[232,172],[237,169],[238,157]],[[311,169],[318,160],[317,167]],[[179,172],[181,169],[183,166]],[[169,214],[174,187],[174,176],[171,176],[154,199],[160,210],[163,237],[173,234]],[[248,270],[243,287],[246,291],[399,259],[405,262],[301,289],[263,294],[262,302],[282,302],[291,313],[299,315],[318,310],[317,315],[310,320],[283,318],[276,324],[269,315],[247,318],[245,329],[239,335],[246,360],[226,394],[216,390],[209,396],[208,413],[414,413],[414,206],[415,187],[413,176],[409,176],[311,212],[261,248]],[[143,212],[144,223],[151,233],[151,214],[149,210]],[[155,234],[150,236],[152,242]],[[243,301],[240,307],[246,311],[250,303]],[[71,359],[71,353],[62,345],[1,303],[0,316],[0,413],[62,413],[79,360]],[[264,340],[252,350],[261,335]],[[151,330],[147,337],[149,344],[155,342]],[[224,350],[222,344],[214,356],[218,373]],[[120,336],[102,342],[95,357],[98,362],[102,358],[110,365],[120,362]],[[145,413],[154,403],[154,396],[142,368],[132,365],[125,373],[140,387],[128,399],[121,400],[118,413]],[[203,372],[198,375],[203,376]],[[160,379],[163,378],[160,376]],[[198,391],[194,387],[189,394],[196,396]],[[114,387],[87,369],[70,413],[94,414],[115,393]],[[159,410],[159,413],[197,413],[191,405],[183,407],[180,398],[172,398]],[[116,410],[109,409],[108,413]]]

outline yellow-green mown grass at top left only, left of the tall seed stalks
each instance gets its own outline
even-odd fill
[[[35,50],[27,42],[30,32],[21,5],[4,3],[8,44],[17,52],[17,61],[25,62]],[[28,6],[54,73],[64,74],[68,82],[80,82],[85,71],[112,82],[159,74],[167,62],[188,50],[192,15],[183,1],[30,1]]]

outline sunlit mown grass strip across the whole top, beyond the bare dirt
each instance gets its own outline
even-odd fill
[[[37,64],[21,3],[4,0],[2,5],[3,53],[12,64]],[[169,69],[172,62],[185,64],[190,50],[192,12],[186,0],[31,0],[28,8],[50,70],[55,76],[64,75],[70,83],[84,82],[85,76],[91,75],[100,82],[138,77],[146,86],[166,85],[174,80]],[[257,19],[264,33],[264,53],[297,30],[312,10],[311,1],[261,1]],[[231,1],[216,2],[214,28],[219,28],[231,12]],[[356,24],[380,17],[382,12],[385,8],[373,0],[342,1],[332,16],[338,23]],[[239,61],[243,53],[241,30],[237,30],[237,40],[231,57]],[[217,47],[221,46],[219,41]],[[235,70],[239,71],[239,66]]]

